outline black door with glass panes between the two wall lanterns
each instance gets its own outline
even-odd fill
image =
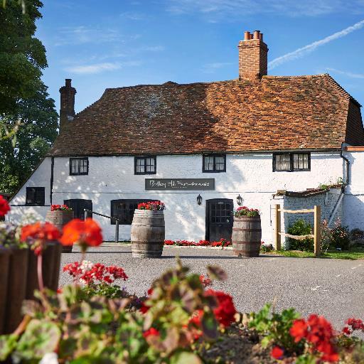
[[[228,198],[206,201],[206,240],[218,241],[222,237],[231,241],[234,203]]]

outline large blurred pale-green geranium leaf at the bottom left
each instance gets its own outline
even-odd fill
[[[25,360],[41,359],[55,351],[59,341],[60,329],[55,323],[32,320],[16,346],[16,355]]]

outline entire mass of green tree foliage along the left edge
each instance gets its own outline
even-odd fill
[[[45,48],[34,37],[38,0],[7,0],[0,6],[0,191],[14,193],[57,136],[54,100],[41,80]],[[18,120],[21,126],[18,128]],[[16,139],[6,130],[17,129]]]

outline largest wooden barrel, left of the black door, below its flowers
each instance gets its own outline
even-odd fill
[[[164,238],[163,210],[135,210],[132,222],[132,257],[161,257]]]

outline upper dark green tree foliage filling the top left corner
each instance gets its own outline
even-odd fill
[[[47,60],[43,44],[34,37],[41,6],[41,1],[28,0],[24,14],[15,0],[0,7],[0,115],[13,113],[19,100],[41,89]]]

